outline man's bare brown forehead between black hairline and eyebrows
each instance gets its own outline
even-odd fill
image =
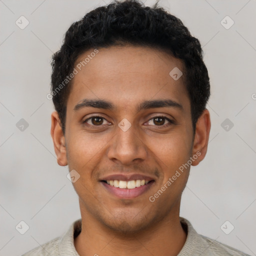
[[[115,110],[138,109],[139,102],[159,98],[189,107],[183,75],[177,80],[171,76],[172,70],[183,70],[181,60],[143,46],[111,46],[97,51],[91,48],[77,58],[67,108],[83,98],[107,99]]]

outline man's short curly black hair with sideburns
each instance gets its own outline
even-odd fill
[[[158,6],[157,1],[149,7],[138,0],[114,0],[72,23],[61,48],[52,55],[51,95],[63,133],[72,83],[68,75],[73,71],[77,57],[90,48],[127,44],[159,49],[182,60],[195,132],[197,119],[210,95],[208,71],[199,40],[179,18]]]

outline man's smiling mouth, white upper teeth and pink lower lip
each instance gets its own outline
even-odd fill
[[[133,199],[145,193],[155,183],[155,180],[132,179],[100,180],[100,183],[111,195],[121,199]]]

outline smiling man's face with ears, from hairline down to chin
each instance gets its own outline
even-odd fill
[[[194,140],[184,77],[169,75],[183,70],[180,60],[135,46],[92,55],[76,68],[64,135],[53,113],[55,152],[60,165],[80,175],[73,185],[81,215],[135,232],[179,214],[190,164],[204,156],[207,138],[198,128]]]

